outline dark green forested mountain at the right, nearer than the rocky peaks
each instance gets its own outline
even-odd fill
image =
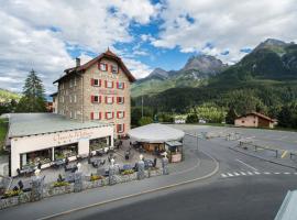
[[[180,70],[183,76],[194,69],[190,59],[187,64]],[[146,96],[144,105],[158,111],[174,109],[183,113],[193,106],[211,102],[234,108],[239,114],[255,110],[277,117],[282,107],[297,100],[297,44],[293,42],[268,38],[239,63],[222,69],[217,74],[208,70],[206,84],[199,87],[172,87]],[[140,105],[140,99],[135,98],[134,102]]]

